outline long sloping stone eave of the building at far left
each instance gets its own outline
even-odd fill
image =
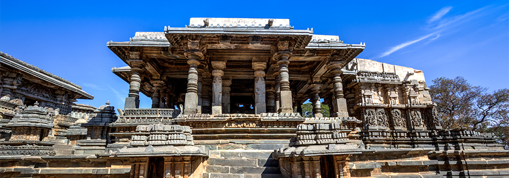
[[[25,62],[22,62],[18,60],[17,58],[14,58],[12,56],[9,56],[3,52],[0,52],[0,61],[7,66],[10,66],[14,69],[20,70],[24,73],[33,75],[43,81],[47,81],[51,84],[54,84],[58,87],[63,87],[66,90],[70,92],[74,92],[79,94],[81,97],[78,99],[94,99],[94,96],[88,94],[87,92],[81,90],[81,86],[78,86],[68,80],[65,80],[61,77],[58,77],[54,74],[51,74],[49,72],[46,72],[42,69],[39,69],[35,66],[32,66],[30,64],[27,64]]]

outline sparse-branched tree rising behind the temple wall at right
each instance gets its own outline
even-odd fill
[[[430,95],[437,104],[446,129],[467,128],[497,134],[507,145],[509,135],[509,90],[487,93],[487,88],[472,86],[463,77],[437,78]]]

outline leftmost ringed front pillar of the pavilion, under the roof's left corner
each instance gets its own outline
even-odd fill
[[[131,55],[131,57],[133,57],[133,55]],[[139,87],[142,82],[142,78],[139,74],[143,72],[143,61],[131,60],[130,64],[132,75],[129,83],[129,97],[126,98],[124,109],[139,108]]]

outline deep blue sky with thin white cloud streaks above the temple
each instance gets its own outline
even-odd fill
[[[463,76],[490,91],[509,87],[507,1],[0,1],[0,50],[83,87],[93,106],[124,107],[129,84],[111,72],[126,66],[106,47],[135,32],[183,27],[191,17],[288,18],[345,43],[366,43],[358,56]],[[149,108],[150,99],[140,99]]]

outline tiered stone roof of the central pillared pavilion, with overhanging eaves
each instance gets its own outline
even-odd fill
[[[205,82],[211,79],[211,61],[226,61],[224,78],[236,80],[231,86],[236,95],[253,93],[253,61],[265,62],[266,80],[274,80],[278,69],[274,54],[280,42],[287,42],[292,53],[288,66],[291,88],[304,98],[310,79],[319,80],[325,90],[330,82],[326,68],[330,60],[348,63],[365,47],[363,43],[346,44],[338,36],[313,34],[313,28],[294,29],[289,19],[191,18],[184,27],[164,26],[164,32],[136,32],[129,41],[108,42],[108,48],[128,65],[112,68],[112,72],[129,82],[131,61],[141,60],[140,92],[150,97],[151,78],[160,78],[175,93],[185,93],[181,85],[189,69],[185,51],[193,40],[205,55],[200,66]]]

